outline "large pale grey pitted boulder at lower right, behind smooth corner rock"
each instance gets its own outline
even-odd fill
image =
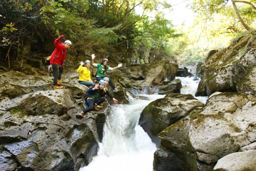
[[[253,147],[251,144],[256,141],[255,104],[256,101],[240,93],[213,95],[204,107],[194,109],[159,134],[159,150],[174,153],[173,160],[183,170],[210,171],[220,158],[242,151],[246,146]],[[158,158],[156,163],[161,163],[160,156],[155,158]],[[154,165],[155,169],[158,167]]]

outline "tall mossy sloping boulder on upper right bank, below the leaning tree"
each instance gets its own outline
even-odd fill
[[[216,91],[237,92],[236,85],[256,65],[256,33],[248,34],[205,60],[199,90],[210,96]]]

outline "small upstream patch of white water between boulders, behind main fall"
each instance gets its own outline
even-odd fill
[[[198,84],[200,82],[200,78],[197,77],[176,77],[175,79],[180,79],[182,88],[180,89],[181,94],[191,94],[195,97],[196,90],[198,87]],[[197,79],[197,80],[195,80]],[[198,96],[195,97],[196,99],[202,101],[204,104],[206,103],[206,100],[208,99],[208,96]]]

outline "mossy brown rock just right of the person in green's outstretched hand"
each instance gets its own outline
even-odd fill
[[[157,89],[154,89],[154,86],[163,80],[174,80],[177,69],[178,65],[169,61],[155,61],[151,64],[133,65],[115,77],[119,78],[118,82],[132,93],[150,94],[156,93]]]

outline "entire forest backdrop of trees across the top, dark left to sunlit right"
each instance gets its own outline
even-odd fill
[[[64,34],[75,56],[132,52],[139,60],[147,52],[154,60],[191,65],[256,26],[256,0],[187,2],[194,12],[190,27],[166,19],[163,11],[175,8],[171,1],[1,0],[0,58],[22,62],[31,52],[50,55],[54,39]]]

